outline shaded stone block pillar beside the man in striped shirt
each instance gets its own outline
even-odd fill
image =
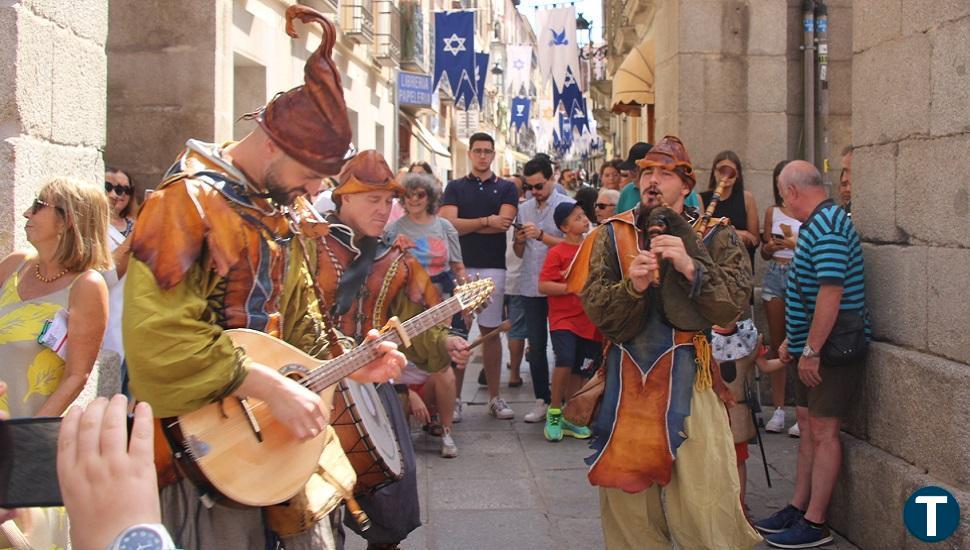
[[[970,5],[856,0],[853,219],[877,343],[829,513],[865,548],[919,546],[906,498],[938,485],[970,547]],[[920,546],[922,547],[922,546]]]

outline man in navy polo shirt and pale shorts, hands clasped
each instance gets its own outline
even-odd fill
[[[491,277],[495,281],[492,301],[478,315],[478,328],[488,334],[502,324],[502,302],[505,295],[505,233],[519,206],[515,184],[500,179],[492,172],[495,140],[486,133],[472,134],[468,140],[471,174],[448,182],[441,200],[441,217],[458,230],[461,255],[470,275]],[[488,383],[488,412],[496,418],[509,419],[515,413],[499,395],[502,365],[502,341],[499,338],[482,343],[482,363]],[[464,371],[455,375],[458,405],[455,421],[461,418],[461,386]]]

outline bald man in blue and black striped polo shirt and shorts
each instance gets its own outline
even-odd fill
[[[829,198],[813,165],[789,163],[778,178],[778,190],[802,222],[788,274],[787,339],[779,350],[783,361],[798,364],[795,400],[801,441],[791,503],[755,527],[769,534],[765,541],[772,546],[813,548],[832,540],[825,514],[842,465],[839,426],[865,364],[823,364],[819,350],[840,310],[864,315],[862,245],[851,218]]]

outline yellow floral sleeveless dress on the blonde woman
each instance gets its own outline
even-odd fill
[[[71,285],[32,300],[22,300],[17,286],[21,265],[0,288],[0,380],[7,394],[0,410],[11,417],[34,416],[54,393],[64,375],[64,360],[37,343],[44,321],[67,308]],[[34,548],[70,548],[67,515],[63,508],[30,508],[16,520]],[[2,537],[0,537],[2,539]],[[0,548],[6,546],[0,540]]]

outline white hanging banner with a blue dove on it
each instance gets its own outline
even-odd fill
[[[539,10],[536,17],[539,34],[539,70],[546,80],[562,90],[565,88],[566,70],[579,67],[579,48],[576,46],[576,8]]]

